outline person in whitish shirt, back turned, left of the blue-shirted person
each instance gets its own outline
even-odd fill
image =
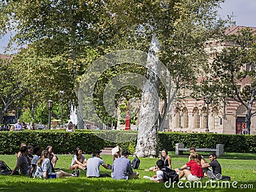
[[[92,157],[90,157],[87,161],[87,171],[86,177],[94,178],[94,177],[111,177],[107,173],[100,174],[99,167],[100,164],[104,166],[104,168],[108,169],[108,164],[104,163],[104,161],[100,158],[100,150],[95,150],[92,153]]]

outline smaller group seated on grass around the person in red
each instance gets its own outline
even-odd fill
[[[217,156],[215,153],[209,154],[210,163],[207,163],[203,156],[196,153],[195,147],[191,147],[189,152],[189,162],[180,168],[175,168],[175,172],[177,175],[179,175],[180,180],[188,179],[189,181],[196,181],[202,180],[204,177],[215,179],[216,175],[221,175],[221,166],[217,161]],[[154,180],[155,182],[164,182],[165,180],[163,168],[172,170],[171,163],[172,159],[170,156],[168,156],[167,151],[162,150],[161,157],[156,162],[156,166],[150,167],[148,169],[148,171],[156,172],[156,175],[153,177],[144,176],[144,178]],[[210,167],[212,170],[209,169]]]

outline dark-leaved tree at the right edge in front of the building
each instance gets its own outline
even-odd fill
[[[223,42],[228,45],[212,63],[212,83],[218,87],[216,90],[223,102],[231,98],[246,108],[246,134],[250,134],[251,117],[256,113],[255,106],[253,108],[256,99],[255,30],[245,28],[233,35],[224,35]],[[245,82],[247,86],[243,85]]]

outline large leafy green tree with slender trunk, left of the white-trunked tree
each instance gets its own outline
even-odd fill
[[[58,98],[55,96],[60,90],[65,90],[67,95],[75,94],[80,128],[83,128],[83,98],[79,76],[93,56],[97,56],[97,50],[102,51],[99,47],[103,47],[104,38],[108,38],[105,13],[100,1],[1,1],[1,20],[5,24],[1,29],[15,31],[12,42],[31,46],[29,51],[24,51],[29,59],[20,63],[31,69],[28,74],[38,74],[43,80],[31,78],[31,84],[40,92],[48,90],[45,95],[53,100]],[[41,86],[43,83],[45,86]],[[49,93],[50,90],[55,92]]]

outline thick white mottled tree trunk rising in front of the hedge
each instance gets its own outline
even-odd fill
[[[159,155],[157,146],[157,116],[159,113],[159,79],[156,73],[159,70],[157,69],[157,52],[159,52],[159,42],[156,35],[154,35],[148,51],[146,65],[149,68],[147,72],[148,81],[143,86],[141,97],[138,140],[134,153],[138,157],[157,157]]]

